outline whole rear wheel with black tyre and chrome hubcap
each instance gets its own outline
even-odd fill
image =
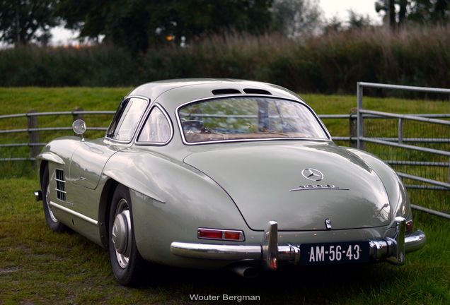
[[[134,239],[132,203],[127,187],[119,185],[114,191],[108,228],[111,268],[122,285],[137,284],[144,260]]]

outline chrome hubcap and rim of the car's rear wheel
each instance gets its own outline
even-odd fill
[[[115,220],[111,237],[115,248],[117,263],[120,267],[127,268],[132,243],[131,218],[129,217],[128,203],[121,199],[117,204]]]

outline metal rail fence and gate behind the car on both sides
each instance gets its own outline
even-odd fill
[[[450,113],[448,114],[395,114],[388,112],[379,112],[363,107],[363,88],[386,88],[397,90],[417,90],[422,92],[440,92],[450,94],[449,89],[441,88],[421,88],[399,85],[386,85],[376,83],[357,83],[357,108],[352,109],[350,114],[321,114],[319,117],[328,125],[328,120],[331,121],[343,121],[343,124],[349,126],[349,136],[333,136],[333,140],[337,141],[340,145],[350,145],[354,148],[367,150],[378,155],[386,163],[391,165],[398,176],[403,179],[405,186],[410,190],[420,191],[433,191],[444,192],[449,197],[450,192]],[[449,111],[450,112],[450,111]],[[52,132],[64,132],[65,135],[73,134],[70,126],[50,126],[40,127],[37,118],[40,116],[68,116],[71,121],[75,119],[84,119],[84,116],[91,115],[108,115],[113,116],[114,111],[84,111],[77,108],[71,112],[33,112],[23,114],[9,114],[1,115],[0,121],[4,119],[23,119],[26,118],[28,126],[26,128],[19,129],[3,129],[0,130],[1,135],[8,135],[13,133],[28,134],[28,141],[25,143],[18,143],[20,141],[14,140],[14,143],[7,143],[8,140],[1,140],[0,151],[5,148],[29,148],[29,157],[21,156],[9,156],[5,157],[4,154],[0,154],[0,161],[27,161],[35,160],[35,157],[40,152],[40,147],[45,145],[45,140],[42,140],[41,134],[47,131]],[[371,131],[371,126],[377,125],[376,121],[396,121],[396,135],[392,134],[374,134]],[[440,130],[439,133],[433,133],[432,136],[408,136],[408,130],[410,129],[410,122],[419,124],[425,124],[429,129],[429,126],[444,126],[444,130]],[[17,125],[17,124],[14,124]],[[389,124],[378,124],[380,126],[386,126]],[[392,125],[392,124],[391,124]],[[340,126],[342,124],[340,123]],[[408,128],[407,128],[408,127]],[[384,128],[384,127],[383,127]],[[89,127],[88,131],[106,131],[107,127],[97,126]],[[329,128],[331,134],[333,127]],[[342,128],[340,128],[342,129]],[[373,129],[373,128],[372,128]],[[417,130],[416,130],[417,131]],[[419,132],[420,134],[420,132]],[[54,135],[53,135],[54,137]],[[393,153],[388,148],[398,148],[402,151]],[[418,152],[422,155],[415,155],[412,151]],[[388,153],[386,153],[388,152]],[[22,151],[23,153],[23,151]],[[25,152],[26,153],[26,152]],[[417,170],[420,168],[421,170]],[[422,169],[427,169],[426,171]],[[439,177],[440,179],[437,179]],[[445,178],[446,177],[446,178]],[[414,196],[412,196],[414,197]],[[448,199],[447,199],[448,200]],[[412,202],[415,198],[412,198]],[[445,201],[445,199],[444,199]],[[449,204],[450,206],[450,204]],[[424,210],[427,213],[439,215],[450,219],[450,215],[442,213],[430,208],[421,207],[418,205],[412,205],[417,210]],[[442,209],[441,209],[442,210]],[[448,207],[445,208],[448,210]]]

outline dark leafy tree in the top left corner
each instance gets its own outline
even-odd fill
[[[0,0],[0,40],[25,45],[47,44],[50,29],[57,25],[53,10],[56,0]]]

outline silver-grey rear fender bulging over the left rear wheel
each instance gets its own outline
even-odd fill
[[[134,236],[146,260],[174,263],[179,258],[171,254],[171,242],[198,242],[198,227],[249,230],[215,181],[177,160],[123,150],[110,158],[103,174],[129,188]]]

